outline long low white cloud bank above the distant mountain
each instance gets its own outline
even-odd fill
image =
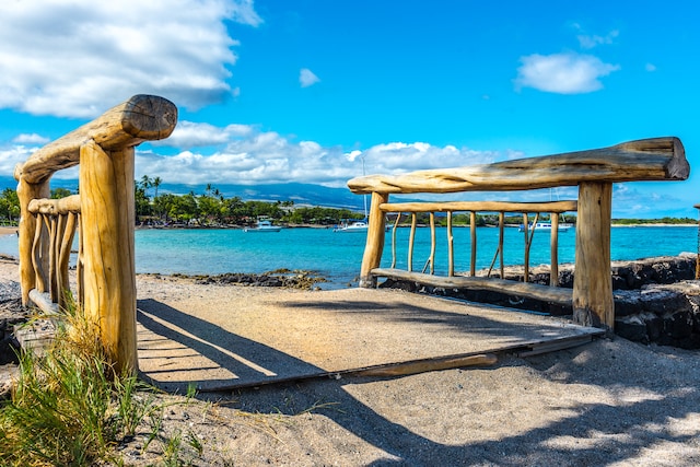
[[[340,147],[292,141],[277,132],[261,132],[244,125],[217,128],[186,122],[179,131],[163,142],[177,142],[172,144],[175,147],[182,143],[180,148],[212,147],[215,151],[187,150],[176,155],[137,151],[137,178],[148,174],[159,176],[165,183],[259,185],[299,182],[342,187],[348,179],[362,175],[363,160],[366,174],[397,174],[503,157],[497,152],[454,145],[438,148],[424,142],[393,142],[365,151],[345,152]]]

